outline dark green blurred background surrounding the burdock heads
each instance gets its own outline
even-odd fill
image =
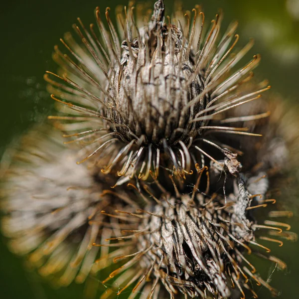
[[[222,8],[223,32],[230,21],[239,20],[239,44],[254,37],[256,43],[250,54],[262,55],[256,72],[258,77],[268,78],[272,92],[298,105],[299,0],[184,0],[183,3],[184,8],[190,10],[195,4],[202,4],[209,20]],[[42,76],[45,70],[56,70],[51,53],[59,38],[71,30],[77,16],[88,24],[95,21],[96,6],[104,10],[109,5],[114,11],[117,4],[126,5],[127,1],[6,0],[1,3],[0,156],[10,142],[50,113],[53,103],[45,91]],[[165,0],[165,4],[166,13],[170,14],[173,0]],[[294,196],[294,200],[299,201],[299,192],[295,193],[298,196]],[[299,204],[289,209],[296,206]],[[290,221],[292,231],[297,233],[298,220],[295,216]],[[285,242],[283,248],[276,248],[274,244],[273,248],[274,255],[283,257],[289,267],[284,272],[275,271],[271,285],[282,292],[282,299],[299,298],[299,243]],[[269,277],[273,268],[268,263],[256,262],[261,264],[264,277]],[[255,287],[255,290],[261,299],[271,297],[264,288]],[[25,270],[23,260],[6,249],[5,239],[0,236],[1,299],[81,299],[82,294],[83,286],[76,284],[59,290],[49,287],[38,275]]]

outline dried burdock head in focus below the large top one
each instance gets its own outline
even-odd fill
[[[245,298],[248,291],[250,297],[258,298],[255,283],[278,295],[246,256],[256,255],[275,263],[278,269],[285,269],[286,264],[270,254],[268,244],[282,246],[280,239],[295,240],[296,234],[289,232],[290,225],[283,222],[257,222],[256,210],[265,209],[275,200],[268,199],[265,193],[250,193],[252,182],[242,173],[237,175],[234,189],[226,197],[209,195],[208,186],[205,192],[200,191],[199,182],[206,171],[207,167],[198,170],[191,193],[180,194],[176,189],[171,195],[159,185],[162,191],[159,198],[152,195],[145,207],[125,213],[128,220],[138,222],[117,239],[128,244],[131,244],[128,239],[133,240],[135,251],[116,258],[131,259],[113,271],[103,281],[104,285],[114,279],[117,295],[133,288],[130,299],[139,292],[143,298],[181,298],[179,292],[184,298],[239,298],[240,294]],[[150,193],[149,186],[146,191]],[[269,217],[290,214],[271,211]],[[114,217],[117,215],[124,212],[116,211]],[[114,292],[113,288],[108,290],[101,299],[110,298]]]

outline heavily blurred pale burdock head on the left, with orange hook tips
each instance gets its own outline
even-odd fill
[[[138,205],[122,190],[105,191],[115,179],[77,165],[77,149],[62,146],[60,134],[48,129],[29,131],[3,156],[2,233],[11,251],[26,255],[42,276],[58,285],[82,283],[110,265],[109,244],[99,250],[93,243],[120,235],[127,225],[101,210]],[[116,253],[127,252],[119,247]]]

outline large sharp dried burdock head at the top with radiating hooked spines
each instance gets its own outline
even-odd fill
[[[252,135],[247,128],[231,126],[224,114],[269,89],[264,83],[243,88],[260,57],[238,69],[253,42],[233,53],[239,39],[236,22],[221,37],[222,14],[204,34],[199,6],[193,16],[179,8],[170,19],[158,0],[145,22],[142,13],[135,16],[132,2],[119,10],[117,30],[106,9],[106,30],[96,9],[100,34],[78,18],[79,25],[73,26],[78,38],[67,33],[61,39],[71,56],[55,46],[59,73],[45,75],[61,112],[50,119],[61,121],[62,131],[74,131],[66,136],[84,142],[88,151],[78,163],[109,155],[102,171],[115,168],[121,182],[134,175],[157,177],[160,165],[184,177],[194,164],[215,161],[215,151],[223,157],[234,150],[233,144],[217,140],[219,133]],[[267,115],[245,116],[256,120]]]

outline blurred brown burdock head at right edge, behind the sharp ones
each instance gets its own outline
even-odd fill
[[[260,139],[231,136],[230,143],[239,149],[242,172],[253,175],[265,171],[270,177],[297,175],[298,111],[295,103],[290,105],[280,95],[270,93],[263,101],[247,103],[226,113],[227,121],[235,122],[236,127],[247,127],[250,132],[263,136]],[[265,118],[252,120],[240,117],[245,113],[263,114]],[[280,184],[281,187],[283,185]]]

